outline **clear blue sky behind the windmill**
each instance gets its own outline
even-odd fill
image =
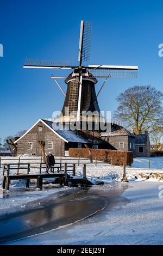
[[[139,65],[137,79],[105,84],[101,110],[115,111],[116,96],[128,87],[152,84],[162,90],[162,1],[0,0],[1,138],[61,110],[64,96],[50,76],[67,71],[23,69],[23,63],[30,57],[78,64],[80,20],[93,22],[89,64]]]

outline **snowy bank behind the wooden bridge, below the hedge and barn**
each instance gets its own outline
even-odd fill
[[[33,157],[34,158],[34,157]],[[17,160],[14,160],[13,157],[6,157],[5,160],[2,160],[3,162],[10,162],[12,163],[17,162]],[[151,168],[149,169],[149,161],[150,161],[150,166]],[[40,162],[40,159],[38,157],[35,158],[35,160],[27,160],[27,157],[23,157],[21,159],[21,162],[32,162],[33,163],[33,168],[30,170],[30,173],[39,173],[39,167],[40,164],[37,164]],[[56,157],[56,162],[60,162],[60,158]],[[70,157],[66,157],[62,159],[62,164],[64,162],[67,162],[68,165],[72,166],[72,163],[77,163],[76,164],[76,177],[78,178],[79,176],[82,177],[82,170],[83,170],[83,164],[86,163],[86,175],[87,178],[90,179],[91,181],[93,180],[101,180],[105,182],[120,182],[122,177],[123,177],[123,167],[122,166],[111,166],[109,163],[103,163],[103,162],[97,162],[97,167],[95,166],[95,161],[93,163],[90,163],[89,160],[87,159],[81,159],[80,166],[78,166],[78,159],[73,159]],[[58,164],[59,167],[59,164]],[[72,169],[70,167],[69,169]],[[56,169],[55,169],[56,170]],[[0,176],[0,187],[2,187],[2,168],[1,168],[1,176]],[[27,170],[20,170],[21,173],[26,173]],[[43,169],[42,172],[45,172],[45,169]],[[16,174],[16,170],[11,171],[12,174]],[[146,180],[149,176],[150,181],[160,181],[163,179],[162,176],[155,176],[155,175],[150,175],[151,173],[156,173],[156,174],[163,174],[163,157],[142,157],[142,158],[135,158],[134,163],[132,164],[131,167],[126,168],[126,175],[129,181],[133,181],[135,179],[139,180]],[[51,181],[47,179],[46,181]],[[36,180],[31,180],[30,186],[35,186]],[[11,189],[14,187],[25,187],[25,181],[23,180],[18,180],[18,181],[11,181]],[[49,186],[49,185],[44,185],[44,186]],[[52,184],[50,186],[53,186]],[[55,185],[54,185],[55,186]]]

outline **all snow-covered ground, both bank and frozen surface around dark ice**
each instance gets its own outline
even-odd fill
[[[151,169],[149,169],[149,160]],[[39,172],[36,168],[37,160],[34,160],[31,172]],[[76,162],[64,160],[65,162]],[[63,162],[64,162],[63,161]],[[57,230],[48,231],[45,234],[35,235],[12,244],[26,245],[162,245],[163,244],[163,199],[159,198],[160,185],[163,180],[151,173],[163,173],[163,157],[136,158],[131,167],[126,168],[129,183],[121,182],[123,170],[121,166],[111,166],[108,163],[98,162],[97,167],[89,160],[86,163],[86,174],[90,180],[103,180],[104,186],[93,186],[91,191],[103,190],[111,194],[111,191],[121,190],[116,204],[105,209],[86,220],[69,225]],[[24,162],[27,162],[24,161]],[[29,162],[31,160],[29,159]],[[12,170],[16,174],[16,170]],[[143,174],[143,175],[142,175]],[[82,164],[76,166],[76,175],[82,176]],[[149,179],[148,179],[149,176]],[[152,181],[152,182],[150,182]],[[31,189],[26,191],[24,181],[11,181],[11,192],[3,194],[0,191],[0,215],[17,210],[26,209],[26,204],[34,200],[40,200],[51,193],[65,190],[76,190],[70,187],[56,187],[54,184],[43,185],[43,190],[35,190],[35,181],[32,181]],[[2,184],[2,168],[0,184]],[[23,188],[22,188],[23,187]],[[54,188],[55,187],[55,188]],[[125,190],[125,191],[124,191]]]

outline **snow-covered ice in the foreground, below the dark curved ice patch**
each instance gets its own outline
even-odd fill
[[[120,185],[124,184],[117,185],[117,190],[121,190]],[[108,186],[108,192],[114,189]],[[67,227],[9,244],[162,245],[163,199],[159,199],[158,193],[158,182],[132,182],[122,194],[120,202],[116,202],[110,209]]]

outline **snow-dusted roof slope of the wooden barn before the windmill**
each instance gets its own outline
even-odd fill
[[[58,133],[58,135],[62,138],[64,138],[67,142],[77,142],[77,143],[89,143],[87,139],[84,139],[77,135],[76,131],[71,131],[68,129],[68,126],[61,125],[58,123],[54,123],[53,121],[47,121],[43,120],[44,123],[46,123],[51,129],[55,131],[55,133]]]

